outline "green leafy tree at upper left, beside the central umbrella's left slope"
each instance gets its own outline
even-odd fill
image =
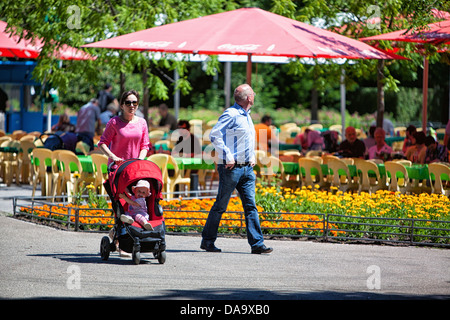
[[[89,49],[96,56],[93,61],[55,60],[51,53],[56,47],[67,44],[80,47],[87,42],[99,41],[131,33],[159,24],[171,23],[201,15],[235,9],[234,1],[211,0],[150,0],[130,3],[127,0],[74,0],[71,2],[41,0],[3,1],[0,4],[1,19],[15,27],[21,37],[40,37],[45,45],[34,70],[39,81],[49,81],[64,94],[71,89],[71,83],[82,74],[97,87],[102,76],[98,73],[107,64],[120,77],[120,91],[125,90],[128,74],[138,70],[145,82],[144,114],[147,115],[148,95],[159,99],[168,98],[168,88],[162,78],[165,70],[176,69],[180,79],[173,87],[186,93],[192,88],[186,81],[184,62],[149,59],[146,54],[134,51]]]

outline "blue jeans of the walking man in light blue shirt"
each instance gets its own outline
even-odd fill
[[[203,228],[203,243],[212,244],[217,239],[222,214],[226,211],[231,194],[236,189],[244,207],[248,243],[252,248],[262,246],[264,239],[255,203],[256,177],[253,167],[234,167],[230,170],[226,169],[225,165],[219,164],[217,170],[219,171],[219,191]]]

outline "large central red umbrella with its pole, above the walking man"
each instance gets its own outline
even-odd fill
[[[361,41],[258,8],[242,8],[133,32],[83,47],[185,54],[393,59]]]

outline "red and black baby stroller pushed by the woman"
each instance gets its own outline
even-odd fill
[[[111,164],[113,165],[113,163]],[[140,263],[141,252],[152,252],[158,262],[166,261],[165,223],[162,207],[159,201],[162,199],[163,187],[162,174],[159,167],[148,160],[130,159],[124,161],[115,170],[108,167],[109,177],[103,186],[111,198],[114,211],[113,240],[110,242],[108,236],[104,236],[100,244],[100,255],[103,260],[108,260],[109,253],[116,250],[115,242],[119,242],[119,248],[132,254],[135,264]],[[137,222],[132,225],[120,220],[125,214],[128,204],[119,198],[119,194],[131,190],[139,180],[145,179],[150,183],[151,195],[146,198],[149,222],[153,231],[143,229]],[[129,191],[128,191],[129,192]]]

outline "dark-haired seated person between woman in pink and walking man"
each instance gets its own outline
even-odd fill
[[[172,150],[174,157],[194,158],[201,156],[202,146],[200,140],[189,131],[190,128],[189,121],[178,121],[178,129],[176,131],[179,134],[179,138]]]

